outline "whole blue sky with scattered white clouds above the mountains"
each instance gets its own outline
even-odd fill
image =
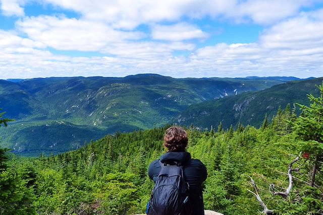
[[[323,77],[323,0],[0,0],[0,79]]]

